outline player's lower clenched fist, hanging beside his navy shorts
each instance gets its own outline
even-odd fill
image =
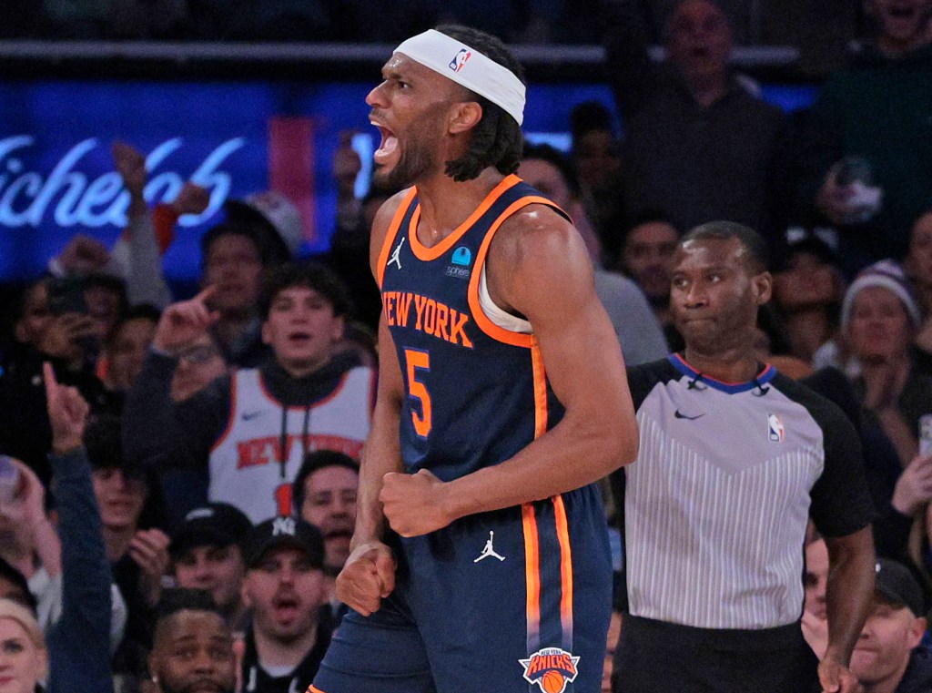
[[[363,616],[378,611],[395,589],[395,559],[379,541],[354,548],[336,576],[336,598]]]

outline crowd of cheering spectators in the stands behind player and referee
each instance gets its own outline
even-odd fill
[[[870,690],[908,665],[925,672],[932,657],[922,649],[932,595],[932,0],[868,5],[876,40],[793,118],[729,66],[733,33],[710,0],[674,4],[659,65],[641,4],[594,5],[624,138],[604,107],[578,104],[570,151],[528,144],[518,173],[583,234],[629,365],[682,347],[667,261],[685,231],[724,219],[765,236],[774,301],[761,310],[761,361],[854,423],[884,557],[862,638],[897,618],[909,636],[892,673],[856,657]],[[452,19],[494,7],[511,40],[520,36],[508,27],[551,31],[532,20],[567,10],[469,7]],[[363,31],[388,41],[451,19],[430,0],[391,7],[391,21],[371,10],[101,0],[42,11],[53,34],[90,38],[200,38],[209,27],[221,39]],[[7,33],[31,35],[38,16]],[[299,257],[294,219],[282,223],[293,205],[258,193],[228,204],[203,235],[202,290],[181,299],[161,255],[206,193],[188,184],[150,209],[142,155],[119,144],[113,157],[131,197],[125,233],[110,248],[76,235],[49,258],[3,340],[0,628],[24,633],[29,675],[56,691],[106,690],[102,678],[117,691],[180,690],[195,673],[174,661],[174,638],[197,644],[197,675],[218,690],[304,690],[344,608],[334,578],[349,552],[377,363],[368,229],[394,191],[353,197],[361,167],[344,138],[327,254]],[[621,570],[617,533],[614,546]],[[813,537],[802,621],[816,653],[828,629],[821,550]],[[24,604],[25,616],[3,600]],[[74,629],[87,651],[69,648]],[[111,662],[103,675],[89,656],[98,650]]]

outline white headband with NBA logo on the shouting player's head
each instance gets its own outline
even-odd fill
[[[517,120],[518,125],[524,122],[525,86],[511,70],[478,50],[429,29],[404,41],[395,52],[404,53],[424,67],[485,96]]]

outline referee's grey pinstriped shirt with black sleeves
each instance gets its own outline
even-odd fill
[[[709,629],[798,620],[808,518],[827,536],[873,518],[852,424],[774,367],[724,383],[673,354],[629,382],[640,451],[613,478],[629,612]]]

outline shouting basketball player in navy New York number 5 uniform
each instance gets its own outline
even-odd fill
[[[637,428],[583,242],[513,174],[521,74],[498,39],[442,27],[399,46],[366,100],[378,181],[411,187],[373,227],[377,406],[337,578],[355,611],[311,691],[599,689],[593,482],[632,460]]]

